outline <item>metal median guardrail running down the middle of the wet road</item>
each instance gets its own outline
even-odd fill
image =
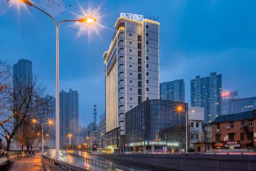
[[[135,170],[135,169],[127,168],[127,167],[122,167],[120,165],[114,165],[112,163],[103,162],[101,160],[95,160],[95,159],[91,159],[89,157],[83,157],[81,155],[72,154],[70,152],[66,152],[66,154],[71,155],[73,157],[77,157],[78,159],[84,160],[85,162],[87,162],[89,164],[94,164],[99,167],[104,167],[104,168],[106,168],[106,170],[127,170],[127,169],[129,169],[130,171]]]

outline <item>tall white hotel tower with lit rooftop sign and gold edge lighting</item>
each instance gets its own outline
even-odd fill
[[[159,99],[159,22],[121,13],[115,28],[115,36],[103,55],[106,131],[118,128],[122,136],[126,135],[126,112],[145,100]],[[109,142],[106,139],[106,145],[122,147],[120,140]]]

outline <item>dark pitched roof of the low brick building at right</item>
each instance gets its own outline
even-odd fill
[[[234,120],[247,120],[247,119],[256,119],[256,114],[254,114],[256,110],[252,110],[249,112],[241,112],[237,114],[229,114],[229,115],[221,115],[217,117],[212,124],[221,123],[221,122],[230,122]]]

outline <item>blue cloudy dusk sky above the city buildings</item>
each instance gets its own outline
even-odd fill
[[[61,0],[56,0],[61,1]],[[78,2],[87,8],[89,1],[65,1],[67,7],[46,7],[57,21],[82,14]],[[239,97],[256,96],[256,1],[239,0],[96,0],[101,6],[99,36],[63,24],[59,38],[59,89],[79,92],[79,123],[92,122],[93,105],[98,115],[104,112],[104,51],[114,32],[119,12],[159,16],[160,82],[185,80],[185,101],[190,103],[190,79],[210,72],[222,74],[224,90],[239,90]],[[27,8],[27,9],[26,9]],[[71,12],[72,11],[72,12]],[[59,14],[63,12],[63,14]],[[56,29],[49,17],[33,7],[21,7],[0,0],[0,59],[9,64],[19,59],[32,61],[47,92],[55,95]],[[97,119],[99,121],[99,118]]]

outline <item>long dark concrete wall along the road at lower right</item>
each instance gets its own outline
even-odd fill
[[[168,170],[231,171],[255,170],[256,155],[220,154],[123,154],[104,155],[115,160],[128,160]]]

